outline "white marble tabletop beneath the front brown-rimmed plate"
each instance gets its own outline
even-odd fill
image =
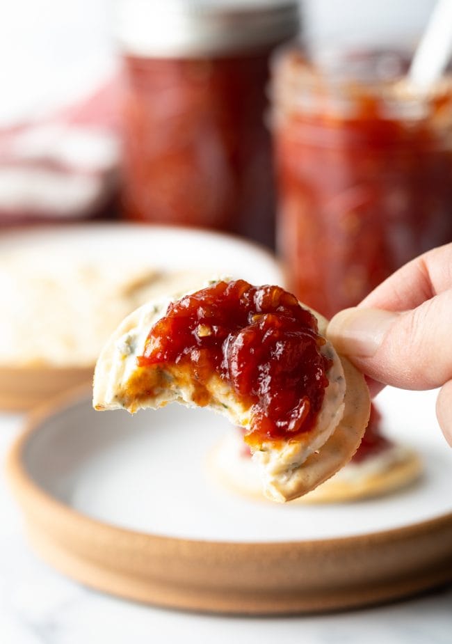
[[[3,461],[22,425],[0,415],[0,643],[451,644],[452,588],[396,604],[298,618],[225,618],[140,606],[79,586],[42,563],[24,539]]]

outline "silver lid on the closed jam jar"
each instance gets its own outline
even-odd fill
[[[120,0],[116,33],[138,56],[233,54],[298,33],[296,0]]]

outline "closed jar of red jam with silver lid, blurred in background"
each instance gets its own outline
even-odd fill
[[[293,0],[124,1],[122,208],[273,244],[268,58]]]

